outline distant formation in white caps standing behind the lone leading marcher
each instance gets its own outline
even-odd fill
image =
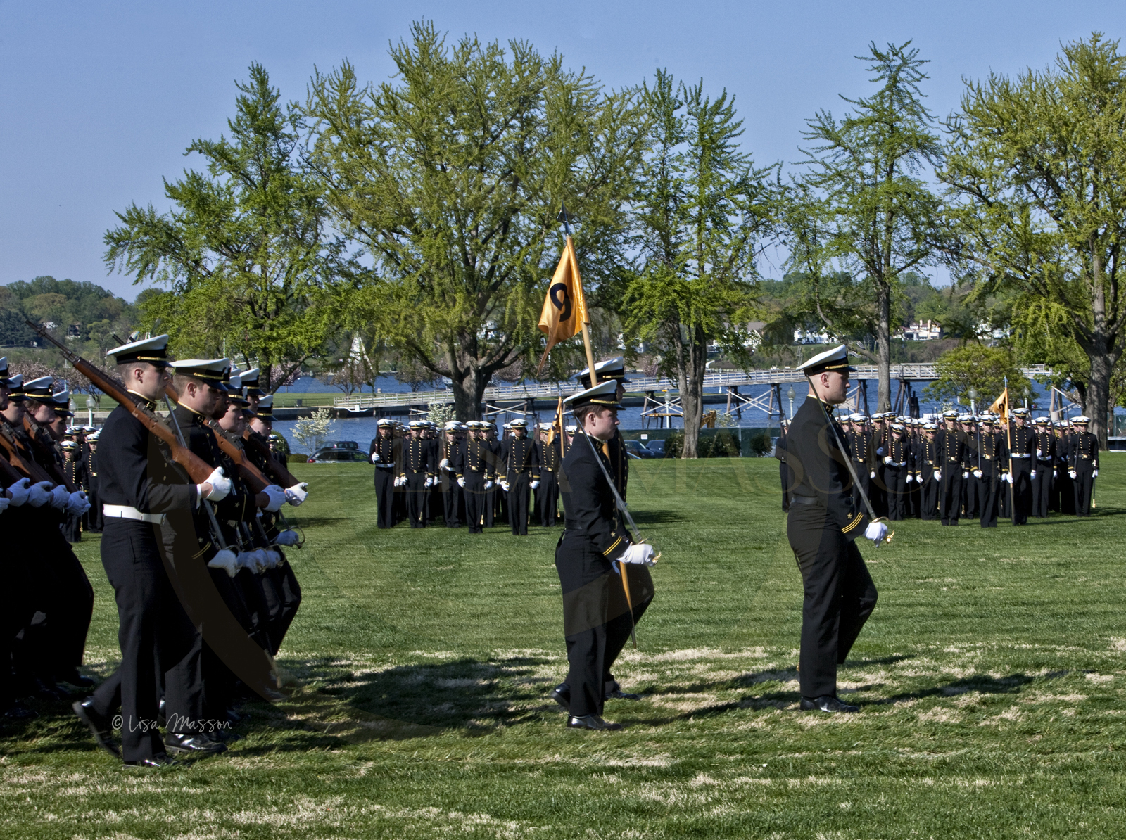
[[[957,525],[969,518],[990,528],[998,517],[1025,525],[1048,511],[1090,515],[1099,450],[1089,418],[1052,422],[1013,409],[1008,423],[956,411],[942,412],[939,422],[893,412],[838,421],[857,474],[857,503],[863,492],[888,519]],[[775,450],[783,461],[784,510],[794,482],[785,464],[788,436],[784,423]]]

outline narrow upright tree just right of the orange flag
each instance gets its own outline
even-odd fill
[[[697,457],[709,345],[750,355],[754,257],[772,231],[772,167],[756,169],[740,151],[742,120],[724,91],[677,83],[663,70],[643,95],[652,126],[635,202],[642,254],[626,284],[627,331],[659,349],[677,377],[683,410],[681,457]]]

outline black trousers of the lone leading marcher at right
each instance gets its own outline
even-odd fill
[[[793,506],[786,535],[804,588],[802,696],[835,695],[837,668],[876,608],[876,584],[856,543],[826,521],[821,506]]]

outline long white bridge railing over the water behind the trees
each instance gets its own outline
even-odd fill
[[[1046,365],[1031,365],[1021,369],[1021,373],[1031,378],[1033,376],[1044,376],[1049,373]],[[919,363],[908,365],[892,365],[891,376],[893,381],[906,379],[920,382],[937,379],[938,373],[933,364]],[[856,373],[851,375],[852,381],[876,379],[879,377],[879,369],[875,365],[856,365]],[[801,370],[789,367],[772,367],[768,370],[740,370],[724,374],[706,374],[704,376],[705,388],[730,388],[742,385],[774,385],[786,382],[802,382],[805,379]],[[679,388],[674,379],[656,377],[631,377],[626,384],[629,393],[644,393],[656,391],[677,391]],[[563,395],[574,393],[578,385],[573,382],[530,382],[520,385],[490,386],[485,388],[483,400],[485,402],[519,402],[521,400],[549,400],[555,399],[561,393]],[[452,403],[454,394],[448,388],[435,391],[404,391],[387,394],[350,394],[348,396],[337,396],[332,400],[332,405],[337,409],[350,409],[361,411],[366,409],[394,406],[394,405],[422,405],[427,403]]]

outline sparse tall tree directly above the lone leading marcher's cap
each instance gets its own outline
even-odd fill
[[[927,182],[940,142],[919,83],[927,62],[911,42],[870,44],[870,97],[848,99],[838,120],[821,110],[804,133],[807,171],[788,213],[790,266],[807,283],[807,304],[839,339],[872,336],[851,349],[879,368],[878,410],[891,408],[891,333],[900,278],[936,259],[940,202]]]

